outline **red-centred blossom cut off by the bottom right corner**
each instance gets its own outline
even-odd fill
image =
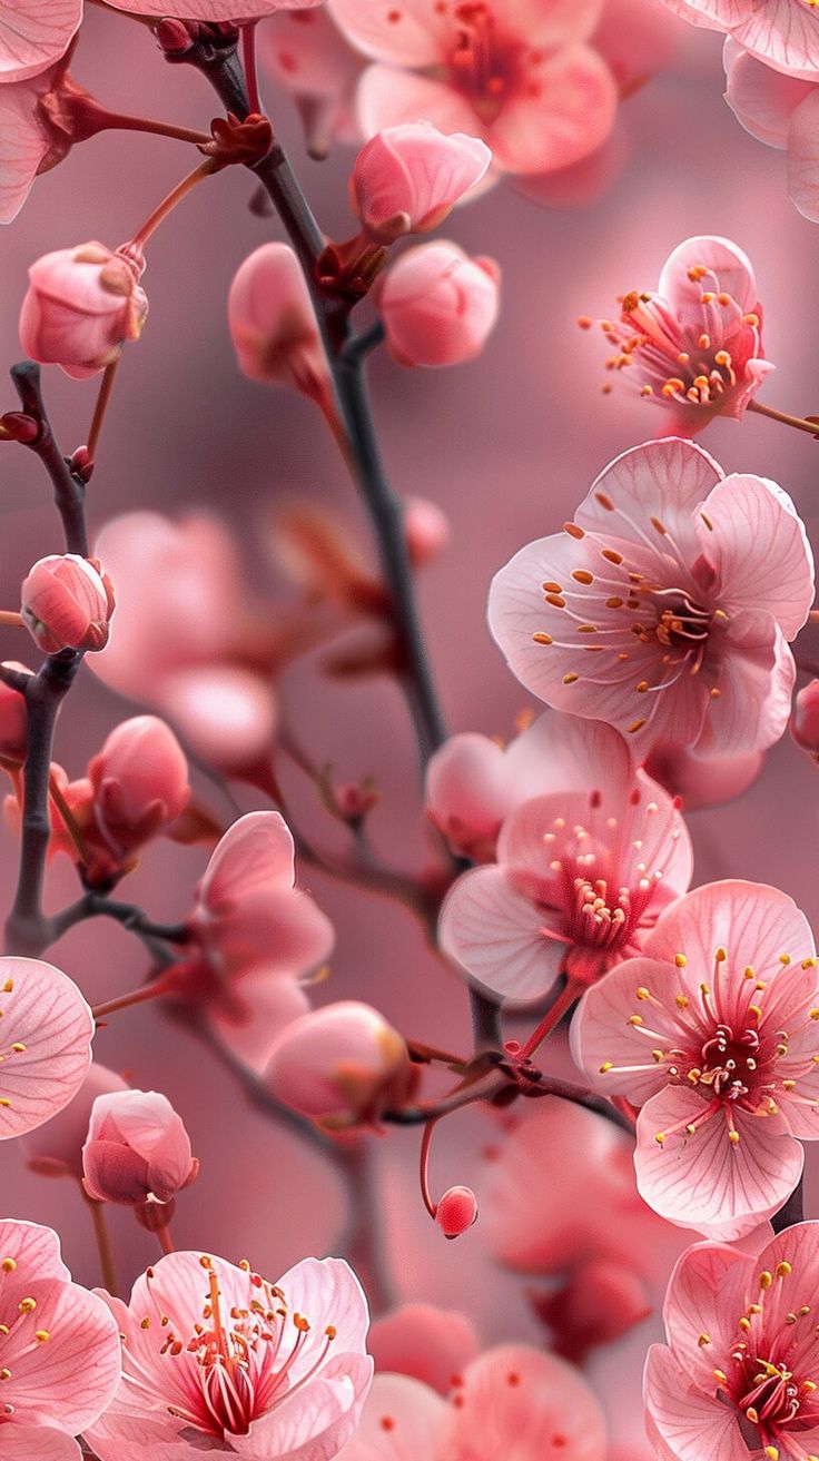
[[[683,1254],[667,1346],[654,1344],[645,1366],[647,1429],[663,1461],[813,1461],[818,1277],[819,1223],[785,1229],[756,1258],[717,1243]]]

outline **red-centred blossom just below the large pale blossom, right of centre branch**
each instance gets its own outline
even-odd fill
[[[634,773],[609,726],[585,723],[575,736],[594,761],[591,782],[568,776],[561,790],[518,805],[501,827],[498,862],[464,872],[441,910],[444,953],[507,998],[540,998],[561,973],[582,992],[642,948],[691,881],[691,842],[672,798]]]

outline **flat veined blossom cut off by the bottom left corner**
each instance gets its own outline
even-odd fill
[[[3,1461],[80,1461],[72,1438],[120,1382],[117,1324],[72,1283],[57,1233],[12,1218],[0,1223],[0,1369]]]

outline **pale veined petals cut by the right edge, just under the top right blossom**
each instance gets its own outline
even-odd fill
[[[812,20],[812,25],[819,22]],[[783,76],[726,41],[726,101],[746,131],[787,153],[787,188],[804,218],[819,219],[819,72],[813,82]]]

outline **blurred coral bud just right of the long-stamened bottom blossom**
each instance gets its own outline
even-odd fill
[[[455,1309],[431,1303],[403,1303],[375,1319],[369,1331],[369,1353],[377,1370],[412,1375],[447,1395],[453,1375],[461,1375],[477,1354],[474,1327]]]

